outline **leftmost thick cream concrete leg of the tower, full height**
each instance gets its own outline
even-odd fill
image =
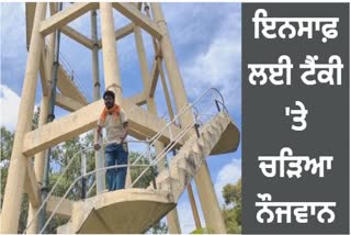
[[[27,157],[22,154],[23,139],[31,131],[37,74],[39,70],[41,53],[44,46],[44,38],[39,33],[41,21],[45,19],[46,2],[36,3],[33,32],[30,45],[24,83],[21,96],[19,120],[13,141],[13,150],[9,167],[9,175],[4,198],[2,203],[1,233],[18,233],[19,219],[21,213],[21,202],[23,193],[24,177],[26,174]]]

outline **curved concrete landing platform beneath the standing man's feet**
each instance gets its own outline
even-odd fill
[[[168,192],[124,189],[73,203],[71,221],[57,233],[145,233],[177,204]]]

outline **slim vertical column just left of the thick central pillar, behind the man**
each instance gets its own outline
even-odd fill
[[[90,12],[91,18],[91,38],[94,42],[94,46],[91,51],[92,57],[92,82],[93,82],[93,99],[94,101],[100,100],[100,78],[99,78],[99,44],[98,44],[98,27],[97,27],[97,10]],[[97,135],[97,132],[94,132]],[[94,139],[98,139],[97,136]],[[95,168],[104,167],[104,158],[102,148],[95,150]],[[104,172],[97,172],[97,194],[101,193],[105,189]]]

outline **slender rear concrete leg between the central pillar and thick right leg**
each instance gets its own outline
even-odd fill
[[[150,82],[150,75],[147,66],[147,59],[146,59],[146,53],[145,53],[145,47],[144,47],[144,42],[143,42],[143,36],[140,29],[138,26],[134,27],[134,35],[135,35],[135,43],[136,43],[136,48],[138,53],[138,58],[140,61],[140,71],[141,71],[141,78],[143,78],[143,83],[144,83],[144,94],[146,96],[146,104],[148,108],[148,111],[150,113],[157,114],[157,108],[156,108],[156,102],[154,98],[148,97],[148,83]],[[156,155],[162,152],[165,148],[163,144],[160,142],[155,143],[155,148],[156,148]],[[158,163],[158,170],[159,172],[165,169],[165,163],[166,158],[161,159]],[[181,234],[181,228],[179,224],[179,219],[178,219],[178,211],[177,208],[174,208],[172,211],[170,211],[167,214],[167,223],[168,223],[168,230],[171,234]]]

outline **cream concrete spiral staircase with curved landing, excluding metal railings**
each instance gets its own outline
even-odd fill
[[[235,152],[239,132],[229,115],[219,112],[199,128],[156,178],[157,189],[124,189],[72,203],[70,221],[57,233],[144,233],[176,205],[205,158]]]

